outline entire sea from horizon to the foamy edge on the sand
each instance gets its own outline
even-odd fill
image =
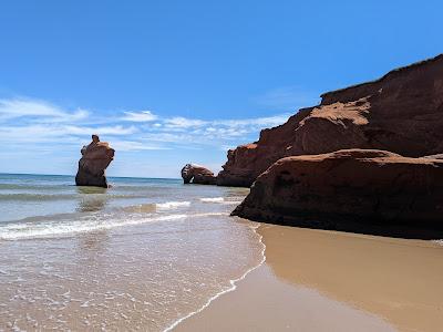
[[[0,331],[165,331],[260,264],[245,188],[0,174]]]

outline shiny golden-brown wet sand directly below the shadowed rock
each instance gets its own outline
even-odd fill
[[[431,241],[264,225],[267,264],[402,331],[443,326],[443,247]]]

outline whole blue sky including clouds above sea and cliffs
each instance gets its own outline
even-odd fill
[[[440,1],[2,1],[0,172],[214,170],[319,94],[443,52]]]

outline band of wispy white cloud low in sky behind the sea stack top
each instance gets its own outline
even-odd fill
[[[120,152],[200,149],[219,151],[257,137],[264,127],[282,124],[289,114],[254,118],[202,120],[162,117],[151,111],[125,111],[112,116],[68,110],[31,98],[0,98],[0,144],[47,151],[50,146],[79,147],[99,134]]]

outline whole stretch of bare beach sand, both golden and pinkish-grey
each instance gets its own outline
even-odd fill
[[[177,331],[441,331],[443,246],[262,225],[265,264]]]

